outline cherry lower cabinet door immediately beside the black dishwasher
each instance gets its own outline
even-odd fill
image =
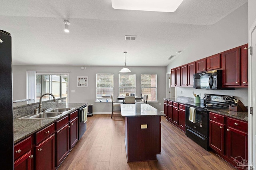
[[[78,117],[70,121],[69,126],[69,148],[72,149],[78,141]]]

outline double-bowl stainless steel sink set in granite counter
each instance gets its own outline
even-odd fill
[[[34,114],[34,115],[28,115],[25,117],[21,117],[19,119],[55,119],[58,117],[61,117],[62,115],[68,113],[69,111],[72,111],[72,109],[75,109],[75,107],[70,108],[50,108],[47,109],[45,112]]]

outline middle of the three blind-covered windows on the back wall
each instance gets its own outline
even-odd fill
[[[119,96],[135,96],[136,74],[119,74]]]

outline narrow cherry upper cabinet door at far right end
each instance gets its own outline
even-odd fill
[[[248,44],[243,45],[240,49],[241,59],[241,86],[248,86]]]

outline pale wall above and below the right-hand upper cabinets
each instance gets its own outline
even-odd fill
[[[255,9],[252,10],[256,13]],[[246,43],[248,43],[248,3],[203,32],[198,39],[184,49],[167,66],[166,72],[170,72],[171,68],[209,57]],[[183,94],[180,94],[180,90],[183,90]],[[236,96],[244,105],[248,106],[248,88],[236,88],[236,90],[199,90],[191,87],[176,88],[178,96],[193,97],[193,91],[196,94],[201,93],[202,96],[204,93]]]

